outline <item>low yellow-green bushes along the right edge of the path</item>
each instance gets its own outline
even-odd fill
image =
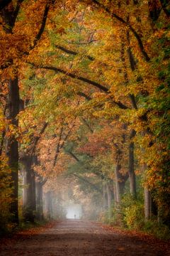
[[[142,231],[160,239],[170,238],[169,227],[164,223],[158,223],[154,216],[152,216],[152,220],[146,221],[142,198],[134,199],[129,193],[123,196],[120,208],[116,208],[113,204],[110,213],[108,210],[103,212],[100,220],[103,223],[128,228],[128,230]]]

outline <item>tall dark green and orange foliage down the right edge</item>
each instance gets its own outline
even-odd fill
[[[150,127],[154,136],[154,145],[149,147],[152,152],[148,158],[149,172],[148,182],[154,191],[154,201],[157,203],[164,223],[169,225],[170,203],[170,63],[169,63],[169,26],[166,27],[163,36],[157,42],[160,48],[159,58],[153,59],[153,65],[158,65],[158,85],[152,96],[147,97],[147,109],[149,118],[154,125]],[[152,150],[151,150],[152,149]],[[153,161],[152,161],[153,159]]]

